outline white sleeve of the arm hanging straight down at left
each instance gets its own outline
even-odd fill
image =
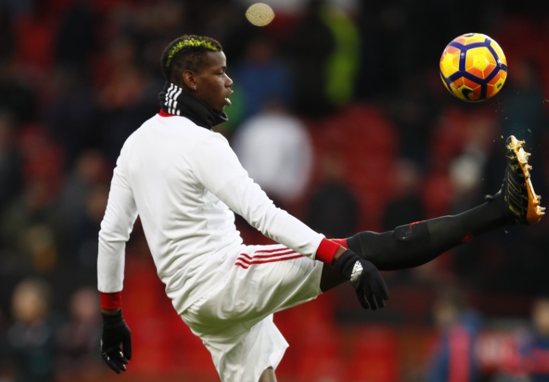
[[[108,202],[99,232],[97,289],[104,293],[121,291],[124,283],[124,255],[137,219],[137,206],[126,181],[121,160],[110,182]]]

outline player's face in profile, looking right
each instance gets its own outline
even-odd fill
[[[225,105],[231,106],[229,96],[233,93],[233,80],[226,75],[226,58],[222,51],[208,52],[202,69],[195,73],[194,96],[212,110],[221,112]]]

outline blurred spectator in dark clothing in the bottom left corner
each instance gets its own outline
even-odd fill
[[[44,280],[26,278],[13,291],[6,363],[14,382],[54,381],[58,320],[50,310],[50,289]]]

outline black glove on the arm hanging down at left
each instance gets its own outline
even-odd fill
[[[122,309],[110,315],[102,313],[101,355],[109,368],[120,374],[132,358],[132,333],[122,317]]]

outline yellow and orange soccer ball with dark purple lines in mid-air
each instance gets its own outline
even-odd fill
[[[501,90],[507,77],[507,60],[493,38],[468,33],[445,47],[440,73],[450,93],[467,102],[478,102]]]

